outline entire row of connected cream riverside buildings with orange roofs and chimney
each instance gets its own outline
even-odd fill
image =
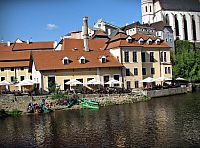
[[[39,89],[48,91],[49,83],[61,90],[72,79],[80,81],[78,88],[92,89],[88,81],[95,79],[101,86],[124,88],[145,87],[140,81],[147,77],[172,78],[170,47],[153,35],[127,35],[121,29],[113,36],[98,30],[89,36],[88,18],[83,18],[82,38],[62,38],[56,42],[24,42],[0,44],[1,81],[32,79]],[[119,84],[106,84],[109,80]]]

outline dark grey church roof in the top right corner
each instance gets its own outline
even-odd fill
[[[162,9],[172,11],[200,12],[199,0],[155,0],[159,1]]]

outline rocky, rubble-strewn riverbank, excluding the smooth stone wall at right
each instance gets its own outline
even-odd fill
[[[46,106],[52,110],[68,110],[68,109],[81,109],[79,105],[74,105],[71,108],[67,108],[66,102],[69,96],[66,98],[60,98],[53,100],[51,96],[14,96],[4,95],[0,97],[0,109],[5,111],[18,110],[23,113],[27,112],[27,107],[30,102],[33,104],[39,104],[42,99],[45,99]],[[96,101],[100,106],[116,105],[116,104],[127,104],[141,101],[147,101],[150,98],[142,94],[120,94],[120,95],[87,95],[83,96],[79,94],[79,98],[86,98],[92,101]]]

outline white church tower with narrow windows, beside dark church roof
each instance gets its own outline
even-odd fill
[[[153,0],[141,0],[142,23],[154,23],[154,5]]]

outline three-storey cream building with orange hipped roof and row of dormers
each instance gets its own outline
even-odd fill
[[[170,47],[159,38],[145,34],[118,33],[107,42],[107,50],[123,65],[125,88],[145,87],[147,77],[172,78]]]

